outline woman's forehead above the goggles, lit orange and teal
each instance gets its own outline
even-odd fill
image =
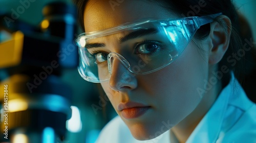
[[[150,1],[94,1],[84,10],[86,32],[99,31],[143,18],[175,18],[173,12]],[[122,2],[122,3],[118,3]]]

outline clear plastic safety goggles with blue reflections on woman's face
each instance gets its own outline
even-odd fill
[[[89,82],[108,81],[118,62],[133,74],[153,73],[177,59],[200,26],[220,15],[147,19],[82,33],[76,39],[79,74]]]

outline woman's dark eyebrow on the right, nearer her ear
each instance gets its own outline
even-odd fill
[[[134,32],[131,32],[131,33],[125,35],[124,37],[120,37],[119,42],[123,43],[127,40],[135,39],[135,38],[142,37],[145,35],[155,34],[157,32],[158,32],[158,30],[155,28],[137,30],[137,31],[134,31]]]

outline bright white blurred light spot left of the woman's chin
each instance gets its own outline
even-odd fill
[[[76,106],[71,106],[71,109],[72,109],[72,115],[70,120],[66,122],[66,128],[70,132],[77,133],[77,132],[80,132],[82,129],[80,112]]]

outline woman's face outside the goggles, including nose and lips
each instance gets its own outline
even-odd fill
[[[181,17],[181,14],[175,15],[149,1],[110,2],[89,1],[84,11],[86,32],[116,27],[141,18]],[[100,47],[98,51],[121,54],[122,49],[115,42],[119,36],[112,36],[105,43],[111,46]],[[206,46],[202,42],[197,44]],[[204,50],[207,52],[207,47]],[[203,89],[204,80],[208,79],[207,61],[207,56],[199,53],[198,47],[190,42],[173,63],[151,74],[132,74],[115,60],[110,80],[101,85],[135,138],[155,138],[197,107],[201,101],[197,89]]]

